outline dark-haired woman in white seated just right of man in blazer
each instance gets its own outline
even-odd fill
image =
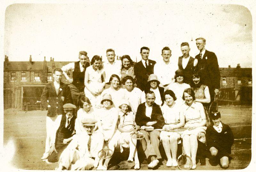
[[[160,133],[160,139],[164,146],[167,156],[166,167],[177,167],[177,149],[180,141],[180,134],[177,132],[169,132],[170,130],[183,127],[185,125],[185,117],[180,113],[180,105],[175,103],[176,97],[172,90],[164,92],[165,102],[161,107],[164,116],[164,127]],[[172,151],[172,155],[171,155]]]

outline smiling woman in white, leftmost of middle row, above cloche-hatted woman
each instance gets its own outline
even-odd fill
[[[104,90],[101,95],[104,95],[106,93],[110,94],[112,97],[112,102],[113,106],[117,107],[121,98],[121,92],[122,90],[120,89],[120,78],[116,74],[111,75],[109,79],[110,87],[106,90]],[[99,104],[99,103],[98,103]]]

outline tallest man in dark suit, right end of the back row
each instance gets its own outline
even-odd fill
[[[205,39],[197,38],[196,46],[200,53],[196,55],[198,60],[197,69],[200,71],[200,81],[209,87],[211,102],[214,95],[218,94],[220,89],[220,70],[218,59],[215,53],[205,49]]]

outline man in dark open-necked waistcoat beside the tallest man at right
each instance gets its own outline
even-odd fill
[[[179,57],[178,67],[184,73],[184,83],[190,84],[192,82],[192,73],[198,61],[189,55],[190,48],[188,42],[182,42],[180,49],[183,56]]]

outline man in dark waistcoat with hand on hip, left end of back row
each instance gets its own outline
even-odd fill
[[[79,106],[78,96],[84,93],[84,75],[86,68],[90,66],[89,58],[86,51],[79,52],[79,61],[69,63],[61,68],[63,75],[71,83],[69,85],[73,103]],[[73,78],[69,78],[67,73],[71,73]]]

